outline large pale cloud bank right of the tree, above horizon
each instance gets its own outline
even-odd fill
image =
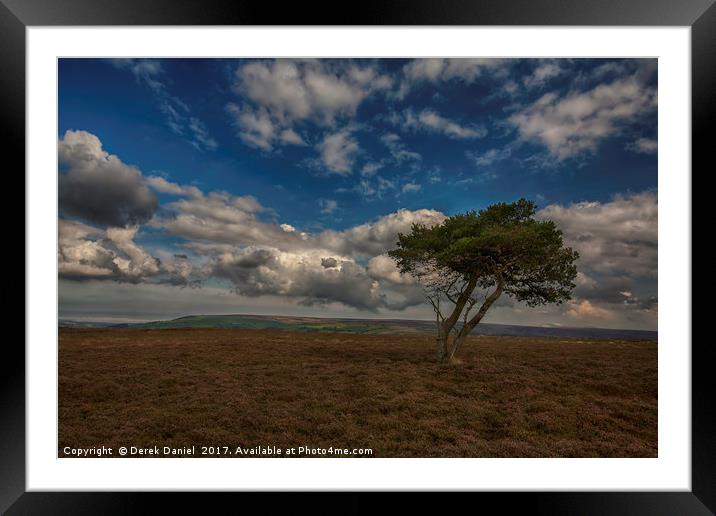
[[[565,244],[580,254],[575,299],[566,315],[585,324],[655,323],[657,215],[654,192],[550,205],[538,212],[538,218],[555,221]]]

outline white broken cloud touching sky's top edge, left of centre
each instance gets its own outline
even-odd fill
[[[377,67],[352,60],[252,60],[234,74],[233,89],[245,104],[227,109],[248,145],[264,150],[305,145],[298,130],[302,124],[332,127],[391,84]]]

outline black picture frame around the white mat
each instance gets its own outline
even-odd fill
[[[327,6],[231,0],[0,0],[0,125],[3,155],[25,164],[25,29],[28,26],[81,25],[607,25],[689,26],[692,66],[692,170],[713,171],[707,129],[716,119],[716,5],[714,0],[383,0],[360,6]],[[6,168],[10,172],[9,167]],[[10,174],[8,174],[10,175]],[[19,174],[16,174],[19,176]],[[694,174],[692,172],[692,178]],[[24,182],[17,185],[24,192]],[[24,198],[24,197],[23,197]],[[692,203],[693,205],[693,203]],[[24,239],[24,235],[22,237]],[[668,271],[662,271],[665,273]],[[7,286],[19,283],[19,275]],[[10,285],[12,284],[12,285]],[[19,285],[18,285],[19,287]],[[18,288],[19,290],[19,288]],[[24,291],[24,289],[23,289]],[[7,299],[7,298],[6,298]],[[690,300],[687,300],[690,301]],[[23,303],[24,306],[24,303]],[[691,492],[555,492],[452,494],[454,503],[486,507],[497,503],[510,512],[528,508],[537,514],[712,514],[716,511],[716,391],[714,351],[709,339],[674,343],[692,352],[692,491]],[[143,514],[149,503],[164,510],[211,511],[230,504],[234,494],[187,493],[56,493],[25,488],[25,353],[17,338],[5,342],[0,359],[0,512],[14,514]],[[255,494],[244,493],[252,498]],[[314,511],[335,509],[316,500],[318,493],[299,497]],[[381,495],[350,495],[340,512],[365,512],[383,503]],[[464,500],[477,496],[478,500]],[[262,500],[263,512],[285,503],[285,496]],[[410,500],[430,508],[422,494]],[[250,502],[251,500],[249,500]],[[246,501],[242,501],[246,503]],[[292,500],[296,507],[296,500]],[[221,504],[221,505],[215,505]],[[445,506],[439,505],[444,509]],[[213,511],[212,511],[213,512]],[[222,511],[223,512],[223,511]]]

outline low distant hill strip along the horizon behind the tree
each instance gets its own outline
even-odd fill
[[[63,320],[61,328],[236,328],[272,329],[302,332],[347,332],[368,334],[426,334],[435,331],[432,321],[400,319],[330,319],[319,317],[289,317],[280,315],[189,315],[169,321],[146,323],[101,323]],[[614,330],[606,328],[564,328],[517,326],[510,324],[481,323],[475,335],[508,335],[527,337],[583,337],[599,339],[656,340],[657,332],[645,330]]]

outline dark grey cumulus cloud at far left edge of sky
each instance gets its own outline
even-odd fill
[[[94,134],[65,132],[58,142],[58,159],[64,170],[58,180],[62,215],[115,227],[152,218],[158,202],[142,173],[105,151]]]

